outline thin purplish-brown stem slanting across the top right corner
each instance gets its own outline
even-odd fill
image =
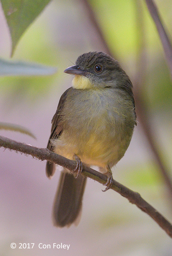
[[[172,78],[172,45],[165,31],[164,25],[162,25],[161,17],[158,12],[158,8],[156,7],[156,4],[154,3],[153,0],[145,0],[145,1],[147,4],[147,8],[149,9],[149,12],[155,22],[158,33],[160,35],[162,46],[164,48],[164,52],[166,55],[166,59],[168,62],[168,66],[169,66],[171,78]]]

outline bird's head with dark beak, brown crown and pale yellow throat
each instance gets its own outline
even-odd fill
[[[104,52],[88,52],[80,55],[76,65],[66,68],[64,73],[75,75],[75,89],[103,89],[105,87],[132,87],[127,74],[119,63]]]

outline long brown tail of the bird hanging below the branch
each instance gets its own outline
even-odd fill
[[[86,185],[86,178],[74,175],[65,169],[61,172],[60,180],[53,207],[53,224],[57,227],[69,227],[72,223],[79,223],[82,196]]]

